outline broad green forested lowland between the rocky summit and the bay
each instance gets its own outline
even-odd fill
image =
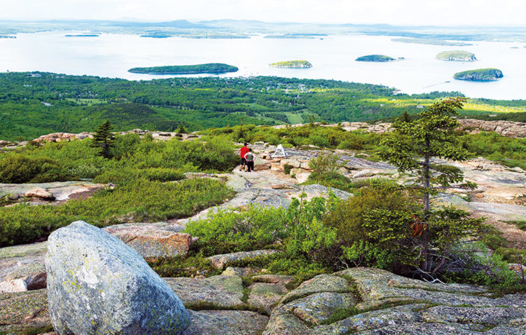
[[[175,77],[128,81],[49,72],[0,73],[0,139],[81,133],[110,120],[115,131],[188,131],[236,124],[297,124],[310,120],[373,121],[418,113],[460,92],[397,94],[384,85],[280,77]],[[48,105],[44,105],[47,103]],[[470,118],[526,121],[526,100],[470,99]]]

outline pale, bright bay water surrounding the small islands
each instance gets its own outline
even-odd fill
[[[336,79],[373,83],[403,93],[459,91],[472,98],[525,99],[526,48],[523,43],[471,42],[471,46],[436,46],[392,42],[390,36],[323,36],[314,39],[141,38],[128,34],[66,37],[79,31],[17,34],[0,38],[0,72],[45,71],[66,75],[95,75],[130,80],[177,77],[127,72],[143,66],[226,63],[238,72],[218,77],[279,76]],[[475,53],[477,62],[444,62],[441,51]],[[355,62],[362,55],[403,57],[388,63]],[[293,59],[312,63],[308,69],[271,68],[268,64]],[[457,81],[455,72],[499,68],[504,78],[478,83]],[[188,75],[201,77],[208,75]]]

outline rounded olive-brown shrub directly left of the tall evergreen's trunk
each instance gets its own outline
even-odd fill
[[[324,224],[338,231],[343,257],[356,266],[391,271],[418,263],[410,226],[415,203],[394,183],[378,180],[377,185],[340,203]]]

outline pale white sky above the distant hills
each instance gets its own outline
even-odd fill
[[[1,19],[526,25],[525,0],[2,0]]]

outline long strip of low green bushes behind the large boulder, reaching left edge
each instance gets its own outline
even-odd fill
[[[0,247],[32,242],[76,220],[103,227],[188,217],[220,204],[233,194],[234,191],[217,180],[160,183],[139,178],[115,189],[98,191],[92,198],[70,200],[58,206],[1,207]]]

